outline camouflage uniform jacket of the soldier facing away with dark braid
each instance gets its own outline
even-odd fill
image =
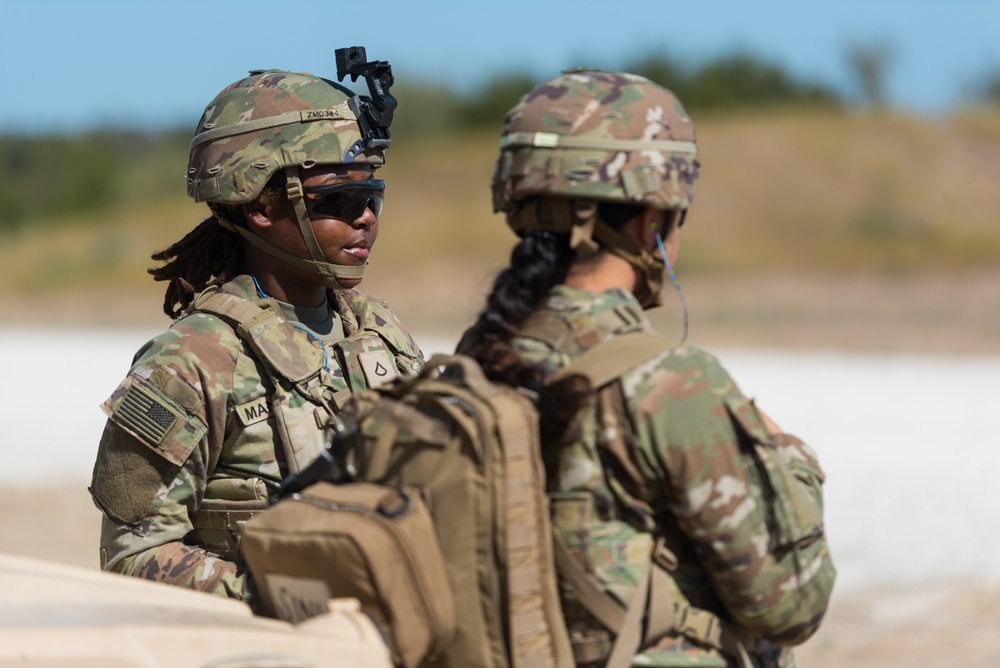
[[[630,293],[561,285],[513,344],[524,361],[554,372],[632,331],[651,327]],[[629,600],[658,540],[683,596],[729,622],[754,664],[794,665],[781,646],[815,631],[834,579],[823,474],[808,446],[769,432],[719,362],[689,347],[654,351],[599,392],[578,420],[579,440],[560,451],[548,483],[554,525],[608,591]],[[789,489],[782,478],[789,468],[803,485]],[[812,516],[790,511],[795,500]],[[607,647],[607,633],[565,592],[564,612],[575,645]],[[639,660],[729,665],[680,633]]]

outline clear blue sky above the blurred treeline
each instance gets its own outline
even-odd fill
[[[542,79],[575,65],[617,69],[654,49],[695,63],[749,51],[848,90],[848,46],[884,40],[894,53],[891,102],[930,115],[953,107],[984,72],[1000,70],[998,0],[0,0],[0,7],[0,132],[193,124],[248,70],[332,77],[334,48],[351,45],[388,60],[397,81],[438,80],[458,90],[474,90],[497,71]]]

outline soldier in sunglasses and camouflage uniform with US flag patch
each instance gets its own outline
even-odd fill
[[[102,568],[252,602],[246,520],[320,454],[345,395],[422,365],[388,305],[353,289],[391,120],[362,122],[366,103],[269,70],[205,109],[187,183],[212,215],[153,255],[174,322],[103,404],[90,486]]]

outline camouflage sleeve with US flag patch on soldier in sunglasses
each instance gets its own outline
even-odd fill
[[[185,544],[221,448],[226,351],[188,326],[139,352],[102,408],[90,492],[104,513],[101,566],[127,575],[243,598],[236,565]]]

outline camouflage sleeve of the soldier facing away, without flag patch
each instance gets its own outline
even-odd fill
[[[623,378],[640,448],[733,620],[779,644],[819,626],[834,568],[823,533],[822,471],[808,447],[770,434],[718,361],[661,356]]]

